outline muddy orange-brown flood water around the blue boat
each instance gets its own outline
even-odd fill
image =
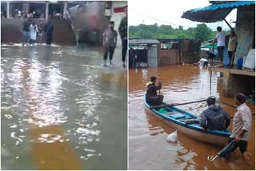
[[[217,84],[218,73],[212,74],[210,91],[210,71],[198,66],[161,66],[129,70],[129,169],[255,169],[255,115],[247,151],[249,161],[242,160],[236,150],[230,161],[217,158],[207,161],[207,156],[215,155],[222,147],[195,141],[178,133],[178,143],[169,144],[166,137],[174,132],[170,126],[150,113],[146,113],[143,95],[146,82],[151,76],[162,78],[161,93],[167,103],[184,103],[206,99],[211,95],[219,101],[234,105],[233,98],[222,97],[221,86]],[[255,113],[255,106],[249,105]],[[230,116],[235,109],[222,105]],[[179,105],[178,108],[199,115],[206,109],[206,102]],[[229,129],[232,128],[232,119]]]

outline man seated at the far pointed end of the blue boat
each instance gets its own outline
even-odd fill
[[[162,105],[163,95],[158,95],[157,90],[162,88],[161,79],[158,78],[158,85],[155,85],[157,82],[156,77],[151,77],[150,82],[146,84],[146,102],[150,105]]]

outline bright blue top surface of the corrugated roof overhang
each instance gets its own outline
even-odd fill
[[[218,3],[212,4],[210,6],[206,6],[203,8],[197,8],[191,10],[191,13],[199,12],[199,11],[206,11],[206,10],[218,10],[218,9],[225,9],[225,8],[236,8],[238,6],[249,6],[255,4],[255,1],[238,1],[238,2],[225,2],[225,3]]]

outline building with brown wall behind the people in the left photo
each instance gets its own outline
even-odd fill
[[[125,1],[2,1],[1,42],[21,42],[23,15],[25,17],[32,13],[33,21],[38,26],[47,22],[47,19],[54,23],[54,43],[75,45],[86,42],[102,45],[102,33],[110,20],[116,22],[115,29],[118,29],[123,13],[122,10],[115,10],[124,6],[127,6]],[[118,45],[121,45],[119,39]]]

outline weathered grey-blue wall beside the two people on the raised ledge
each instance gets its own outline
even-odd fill
[[[238,7],[235,31],[238,35],[238,47],[234,63],[237,58],[247,56],[255,41],[255,6]]]

